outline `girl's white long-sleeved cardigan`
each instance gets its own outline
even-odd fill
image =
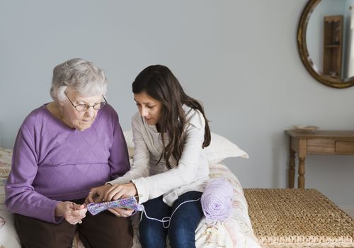
[[[169,162],[173,169],[166,168],[162,158],[163,150],[160,133],[156,125],[149,125],[139,113],[132,117],[132,133],[135,152],[132,168],[124,176],[110,184],[125,184],[132,181],[137,188],[139,203],[164,195],[164,202],[172,206],[174,201],[188,191],[203,192],[209,179],[209,166],[204,141],[205,120],[202,113],[188,106],[183,106],[186,113],[185,145],[178,166],[176,159],[171,157]],[[165,144],[169,137],[165,137]]]

